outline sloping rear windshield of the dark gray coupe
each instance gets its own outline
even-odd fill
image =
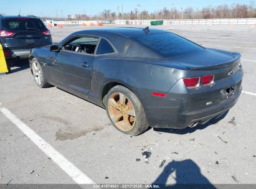
[[[135,39],[156,52],[161,53],[165,57],[176,56],[202,49],[201,46],[170,32],[164,34],[140,35],[135,37]]]

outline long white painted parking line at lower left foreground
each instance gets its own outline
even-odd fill
[[[60,152],[54,149],[49,143],[47,143],[42,137],[40,137],[36,132],[34,132],[29,126],[24,124],[20,119],[18,119],[14,114],[8,109],[1,107],[0,110],[7,119],[9,119],[14,125],[16,125],[29,139],[31,139],[34,144],[39,147],[50,159],[52,159],[55,164],[57,164],[62,170],[64,170],[69,177],[73,179],[78,185],[82,184],[93,184],[94,182],[87,177],[83,172],[81,172],[75,165],[73,165],[69,160],[67,160]]]

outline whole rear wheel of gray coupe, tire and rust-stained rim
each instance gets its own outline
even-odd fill
[[[148,121],[140,100],[124,86],[114,86],[108,92],[107,114],[118,131],[130,136],[137,136],[148,129]]]

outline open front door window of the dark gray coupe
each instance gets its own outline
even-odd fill
[[[93,55],[97,44],[98,38],[95,37],[75,37],[65,43],[62,49]]]

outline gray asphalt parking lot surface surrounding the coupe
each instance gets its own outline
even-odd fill
[[[256,27],[159,28],[204,47],[242,54],[245,93],[227,115],[194,128],[149,129],[140,136],[126,136],[111,126],[104,109],[55,87],[37,87],[28,62],[17,61],[11,74],[0,76],[0,183],[75,183],[70,173],[75,170],[95,183],[256,184]],[[88,28],[50,30],[57,42],[82,29]],[[27,137],[21,128],[36,134]],[[36,135],[55,150],[52,153],[63,156],[64,163],[72,164],[70,172],[47,154],[49,146],[39,147],[41,139],[35,143]],[[141,154],[147,149],[148,164]]]

